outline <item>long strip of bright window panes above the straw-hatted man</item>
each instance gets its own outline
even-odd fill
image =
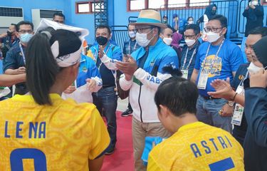
[[[210,0],[127,0],[127,10],[208,6],[209,2]]]

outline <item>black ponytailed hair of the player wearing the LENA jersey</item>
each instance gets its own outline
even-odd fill
[[[51,32],[50,39],[47,33],[36,33],[28,42],[26,56],[30,57],[26,58],[26,85],[39,105],[52,105],[49,92],[62,69],[51,51],[55,41],[59,44],[58,56],[78,51],[82,44],[76,33],[63,29]]]

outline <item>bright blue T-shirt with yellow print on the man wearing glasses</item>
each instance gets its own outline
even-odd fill
[[[199,82],[199,76],[202,70],[201,63],[204,63],[206,51],[209,48],[209,44],[210,43],[208,42],[202,43],[199,46],[199,51],[197,51],[197,59],[194,66],[195,69],[199,70],[197,83]],[[219,46],[210,46],[209,53],[206,57],[206,63],[204,63],[204,70],[202,72],[209,73],[211,63],[212,61],[214,61]],[[236,72],[236,70],[242,63],[244,63],[244,59],[239,46],[229,41],[228,39],[225,39],[224,44],[221,46],[221,50],[219,51],[218,57],[216,58],[214,65],[212,66],[211,72],[209,73],[206,89],[199,89],[199,95],[206,97],[208,96],[207,92],[215,91],[214,88],[210,85],[211,81],[214,81],[215,79],[226,80],[226,78],[229,77],[232,81],[232,72]]]

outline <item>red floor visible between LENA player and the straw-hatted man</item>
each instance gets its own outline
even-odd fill
[[[132,171],[132,116],[121,117],[117,112],[117,144],[112,155],[105,155],[102,171]]]

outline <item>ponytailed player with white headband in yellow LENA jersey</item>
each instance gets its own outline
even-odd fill
[[[80,39],[88,33],[66,28],[70,31],[43,31],[31,38],[30,93],[0,102],[0,170],[100,170],[103,164],[110,138],[95,105],[61,98],[75,81]]]

